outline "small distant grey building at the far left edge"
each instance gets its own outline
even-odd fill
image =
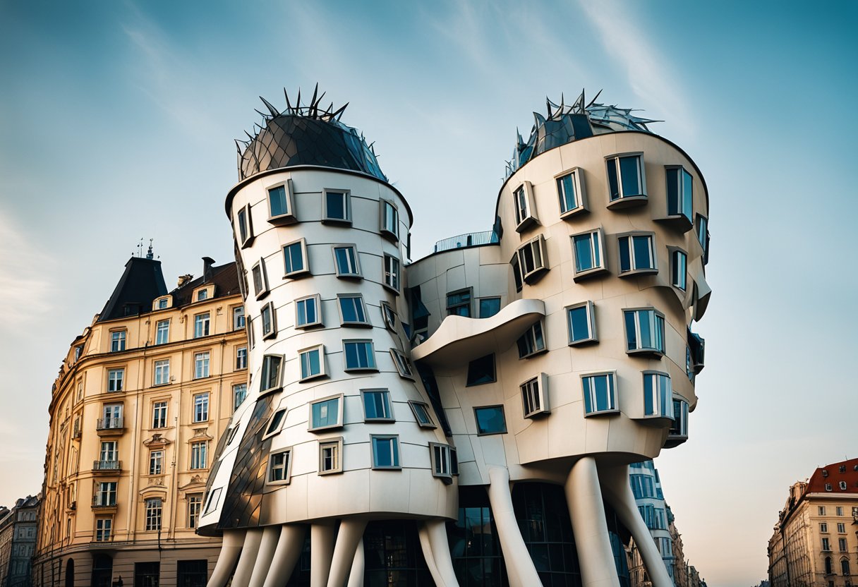
[[[18,499],[0,511],[0,587],[30,587],[39,497]]]

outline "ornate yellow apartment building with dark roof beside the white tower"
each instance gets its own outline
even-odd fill
[[[125,265],[52,388],[37,585],[202,587],[220,550],[196,536],[217,439],[247,381],[235,263],[167,292]]]

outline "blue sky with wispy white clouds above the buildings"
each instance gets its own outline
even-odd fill
[[[789,483],[858,456],[858,3],[2,0],[0,23],[0,503],[39,490],[57,366],[138,239],[168,285],[230,260],[233,138],[316,82],[408,198],[415,258],[491,226],[547,95],[603,89],[697,161],[707,366],[656,464],[710,585],[764,578]]]

